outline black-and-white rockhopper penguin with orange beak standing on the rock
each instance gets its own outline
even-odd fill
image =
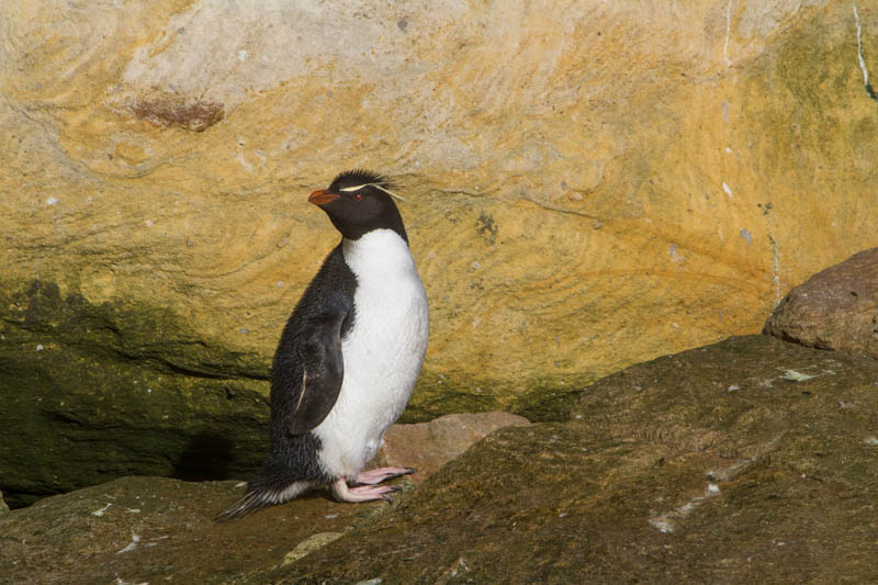
[[[427,350],[429,311],[384,177],[342,172],[308,198],[341,233],[286,322],[271,365],[271,451],[216,520],[330,486],[341,502],[390,502],[410,468],[363,472],[403,414]]]

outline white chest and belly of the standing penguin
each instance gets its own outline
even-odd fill
[[[427,295],[408,246],[379,229],[342,244],[357,277],[354,322],[341,344],[345,378],[329,416],[315,429],[335,475],[356,475],[412,395],[429,333]]]

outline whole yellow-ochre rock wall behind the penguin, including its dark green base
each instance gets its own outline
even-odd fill
[[[691,4],[0,3],[11,500],[172,473],[215,434],[212,468],[252,464],[337,238],[305,198],[339,170],[407,195],[432,310],[407,421],[560,420],[878,245],[878,8]]]

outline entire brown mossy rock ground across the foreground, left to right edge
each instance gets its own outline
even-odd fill
[[[0,571],[22,583],[864,583],[878,558],[877,384],[870,358],[731,338],[600,380],[569,423],[488,435],[393,506],[313,497],[215,525],[230,482],[125,479],[0,518]]]

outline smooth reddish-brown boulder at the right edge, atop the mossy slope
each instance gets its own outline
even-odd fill
[[[878,358],[878,248],[856,254],[792,289],[763,333],[808,347]]]

